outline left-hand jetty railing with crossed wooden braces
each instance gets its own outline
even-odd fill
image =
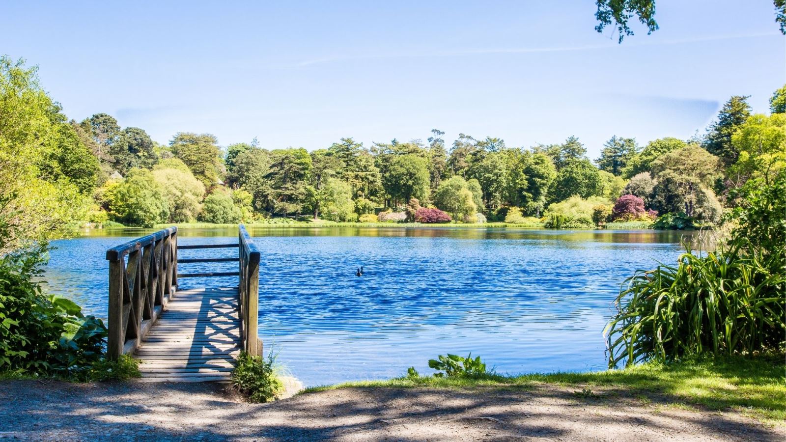
[[[133,352],[178,285],[178,228],[169,227],[106,252],[109,261],[107,356]]]

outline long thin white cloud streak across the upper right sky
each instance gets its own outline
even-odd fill
[[[569,51],[582,51],[582,50],[603,50],[612,49],[615,47],[637,47],[637,46],[665,46],[665,45],[682,45],[698,42],[715,42],[719,40],[731,39],[751,39],[758,37],[772,37],[780,35],[778,32],[758,32],[753,34],[740,34],[740,35],[710,35],[707,37],[697,37],[692,39],[676,39],[676,40],[663,40],[663,41],[639,41],[639,42],[626,42],[622,46],[618,45],[616,41],[597,44],[597,45],[583,45],[583,46],[556,46],[556,47],[540,47],[540,48],[480,48],[470,50],[444,50],[427,53],[387,53],[387,54],[366,54],[366,55],[350,55],[343,57],[323,57],[315,58],[313,60],[300,61],[299,63],[287,66],[286,68],[307,68],[316,64],[336,63],[340,61],[358,61],[358,60],[387,60],[391,58],[432,58],[432,57],[468,57],[472,55],[491,55],[496,53],[551,53],[551,52],[569,52]]]

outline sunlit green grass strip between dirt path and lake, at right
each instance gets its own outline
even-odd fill
[[[586,373],[522,374],[468,378],[394,378],[322,385],[303,390],[320,392],[344,388],[534,389],[538,383],[586,389],[597,395],[627,395],[658,407],[704,407],[736,410],[773,425],[786,422],[786,363],[782,355],[756,358],[703,358],[670,363],[645,363],[624,370]]]

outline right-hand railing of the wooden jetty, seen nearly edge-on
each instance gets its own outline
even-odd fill
[[[240,297],[241,340],[244,350],[249,355],[262,355],[262,341],[257,336],[259,321],[259,249],[248,234],[244,225],[240,225],[237,234],[238,254],[240,255]]]

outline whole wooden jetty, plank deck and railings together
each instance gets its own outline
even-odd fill
[[[236,248],[237,258],[178,259],[178,250]],[[141,359],[142,381],[227,381],[257,337],[259,250],[244,226],[237,244],[178,245],[177,227],[109,249],[108,357]],[[178,273],[178,263],[237,262],[237,272]],[[178,290],[180,278],[237,276],[233,287]]]

